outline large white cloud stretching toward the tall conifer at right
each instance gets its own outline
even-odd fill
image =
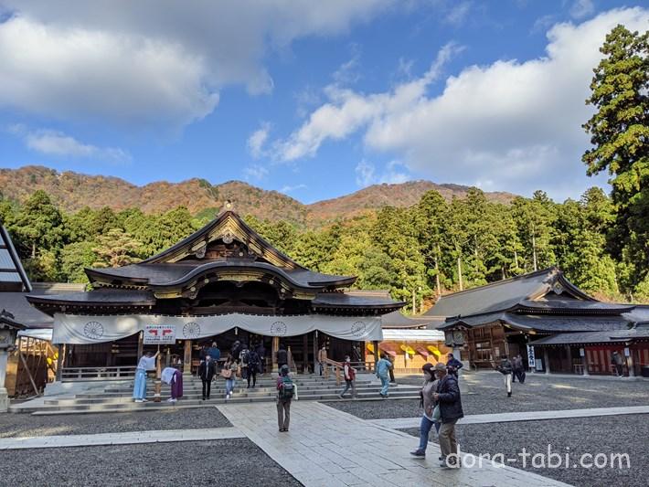
[[[548,31],[546,56],[468,67],[436,96],[428,90],[443,56],[420,79],[389,92],[329,90],[329,100],[277,144],[276,155],[313,156],[327,140],[362,132],[367,150],[397,154],[410,171],[438,182],[496,181],[519,194],[544,187],[554,197],[579,196],[594,184],[580,162],[589,147],[581,124],[592,112],[584,100],[599,48],[613,26],[644,30],[647,22],[649,10],[636,7],[578,26],[558,24]],[[368,169],[361,169],[365,181]],[[605,175],[596,182],[603,181]]]

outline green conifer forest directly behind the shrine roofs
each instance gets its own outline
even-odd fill
[[[558,265],[578,286],[603,299],[645,300],[624,281],[606,251],[612,201],[591,188],[580,201],[558,204],[542,192],[494,203],[472,188],[451,202],[437,191],[413,206],[338,219],[317,229],[251,215],[250,225],[313,270],[356,275],[361,289],[389,289],[418,312],[439,293]],[[184,206],[147,215],[88,207],[66,212],[38,190],[24,205],[4,199],[0,218],[34,280],[86,281],[84,267],[125,265],[165,249],[206,224]]]

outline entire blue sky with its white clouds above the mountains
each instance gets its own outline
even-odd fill
[[[577,198],[596,0],[0,0],[0,166],[239,179],[303,201],[429,179]]]

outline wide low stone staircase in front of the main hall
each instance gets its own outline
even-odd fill
[[[106,384],[105,387],[95,388],[90,391],[81,392],[70,397],[41,397],[37,401],[29,401],[13,405],[9,408],[13,413],[31,413],[36,415],[63,414],[73,412],[118,412],[118,411],[140,411],[155,410],[161,408],[188,408],[202,407],[215,404],[250,403],[250,402],[271,402],[275,400],[277,391],[275,389],[275,375],[258,376],[257,386],[247,388],[247,382],[239,379],[234,389],[234,394],[228,400],[225,399],[225,380],[218,378],[212,383],[212,389],[208,401],[202,400],[202,383],[195,376],[184,377],[184,394],[176,403],[166,401],[170,397],[169,386],[163,384],[161,402],[154,402],[154,381],[147,381],[146,398],[148,402],[134,403],[133,382],[121,384]],[[304,400],[340,400],[338,394],[343,386],[336,386],[335,379],[325,379],[322,376],[293,376],[293,382],[297,386],[298,398]],[[357,399],[378,399],[380,385],[370,380],[370,377],[356,378]],[[390,385],[390,399],[418,398],[419,387]],[[343,399],[349,400],[349,399]]]

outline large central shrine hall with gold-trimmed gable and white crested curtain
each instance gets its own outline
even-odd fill
[[[202,344],[216,341],[226,355],[237,340],[262,344],[269,367],[283,345],[294,370],[308,372],[322,344],[329,358],[363,360],[365,343],[383,339],[381,315],[405,304],[346,294],[355,277],[303,268],[232,211],[150,259],[86,273],[92,291],[27,297],[54,318],[59,370],[133,366],[153,350],[144,333],[162,325],[174,334],[167,360],[182,361],[185,372]]]

